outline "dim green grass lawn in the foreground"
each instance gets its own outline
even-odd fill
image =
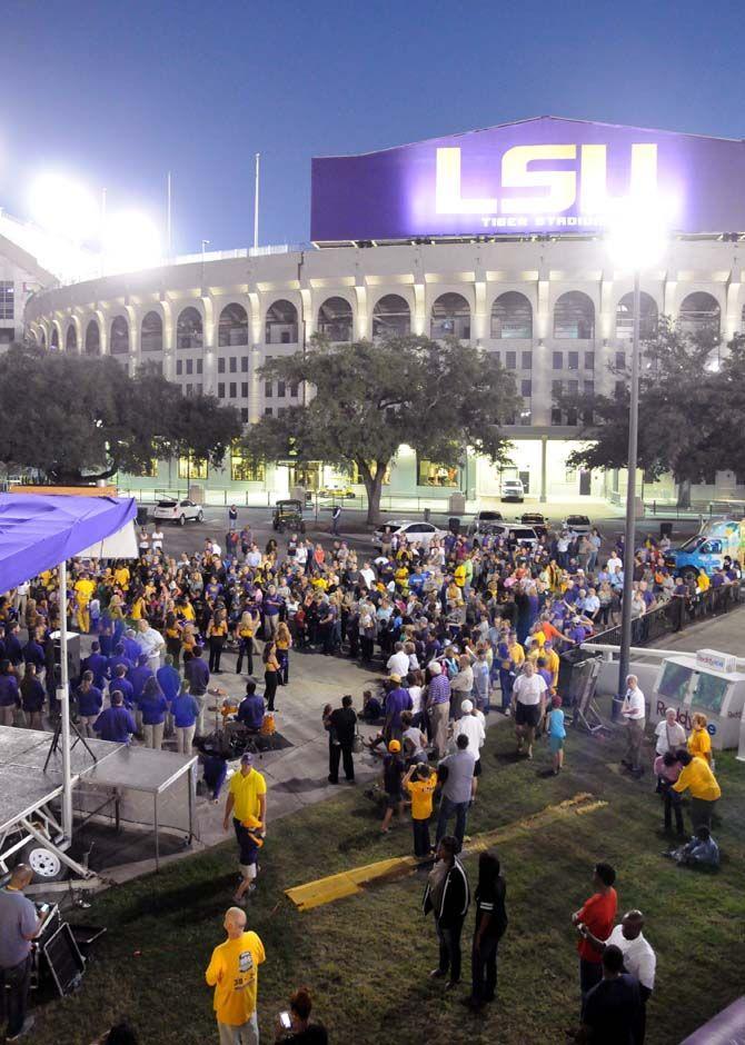
[[[645,913],[646,935],[657,952],[649,1045],[678,1043],[742,993],[745,764],[732,754],[717,757],[724,797],[714,834],[723,866],[705,875],[660,856],[662,805],[650,774],[642,783],[618,774],[613,766],[618,738],[570,735],[567,768],[558,779],[538,776],[548,764],[545,747],[530,764],[515,762],[511,752],[511,729],[489,732],[471,835],[579,792],[608,805],[500,845],[509,928],[499,953],[499,998],[487,1015],[471,1016],[459,1004],[465,983],[446,994],[427,977],[437,946],[431,916],[421,915],[420,876],[307,913],[284,896],[288,886],[410,850],[408,822],[383,837],[371,803],[359,789],[339,788],[332,800],[278,822],[264,849],[260,893],[248,924],[267,951],[259,975],[265,1042],[274,1041],[275,1016],[300,984],[310,987],[335,1045],[564,1042],[578,1008],[569,918],[589,895],[598,859],[616,867],[619,909]],[[687,808],[685,815],[689,823]],[[476,860],[466,866],[475,887]],[[123,1013],[148,1045],[217,1041],[203,971],[224,939],[221,919],[235,882],[236,850],[229,843],[102,894],[82,920],[107,925],[108,935],[93,952],[82,989],[37,1011],[33,1042],[87,1045]],[[473,910],[464,929],[465,977],[471,928]]]

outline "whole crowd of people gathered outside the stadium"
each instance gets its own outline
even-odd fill
[[[683,606],[699,591],[665,566],[665,550],[664,539],[649,538],[635,556],[636,619],[676,599]],[[146,531],[132,564],[77,561],[69,571],[70,624],[90,637],[90,653],[71,681],[72,707],[88,736],[120,743],[138,737],[152,748],[172,737],[169,743],[189,754],[212,729],[208,694],[226,695],[216,677],[230,670],[241,675],[245,666],[242,701],[226,700],[222,708],[218,701],[215,721],[240,749],[281,706],[280,690],[289,683],[297,650],[344,656],[385,670],[380,693],[367,690],[360,709],[361,718],[380,727],[370,747],[383,756],[381,830],[389,832],[394,816],[403,818],[410,806],[415,856],[433,863],[424,899],[439,942],[439,964],[431,975],[457,984],[460,936],[471,904],[458,854],[477,800],[486,716],[500,711],[513,718],[516,753],[526,760],[545,737],[550,759],[546,774],[559,775],[566,739],[559,657],[616,621],[623,583],[623,545],[604,554],[596,530],[578,536],[549,529],[535,547],[511,536],[450,534],[427,547],[384,536],[379,554],[369,558],[340,538],[325,548],[294,534],[281,549],[275,538],[260,549],[250,528],[239,530],[232,516],[225,551],[207,539],[200,553],[169,557],[162,534]],[[737,583],[734,564],[712,581]],[[39,729],[44,718],[59,714],[51,637],[59,626],[59,605],[53,570],[0,597],[4,725]],[[232,656],[235,661],[228,660]],[[255,674],[264,675],[262,694],[250,677]],[[626,767],[640,777],[646,705],[634,676],[622,716],[627,724]],[[327,706],[322,725],[329,739],[329,784],[338,784],[340,769],[354,783],[361,737],[351,696],[336,709]],[[205,778],[217,800],[225,764],[211,779],[208,770],[206,765]],[[675,817],[681,836],[668,855],[684,866],[716,865],[711,827],[721,790],[703,716],[689,738],[675,715],[660,724],[654,776],[665,828],[672,832]],[[679,796],[685,790],[692,796],[694,836],[684,842]],[[246,932],[244,908],[256,890],[266,840],[267,788],[251,749],[244,750],[230,777],[224,826],[227,830],[231,825],[240,880],[225,918],[228,939],[216,948],[207,971],[225,1043],[258,1041],[256,983],[264,947],[256,934]],[[638,910],[629,910],[613,927],[613,868],[598,864],[595,878],[595,896],[574,917],[580,936],[579,1036],[610,1041],[603,1036],[605,1028],[622,1019],[628,1035],[613,1039],[636,1045],[644,1039],[654,952],[642,935]],[[494,852],[479,858],[474,903],[471,988],[465,1003],[480,1012],[496,996],[498,947],[507,928],[505,878]],[[282,1014],[289,1024],[278,1027],[278,1041],[326,1041],[309,1014],[309,996],[298,992]]]

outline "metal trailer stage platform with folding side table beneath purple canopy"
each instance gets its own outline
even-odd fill
[[[64,853],[69,839],[53,809],[63,789],[60,752],[52,753],[44,770],[51,742],[51,733],[0,726],[0,873],[33,839],[79,877],[91,874]],[[151,830],[156,867],[161,830],[182,832],[187,843],[196,837],[196,757],[108,740],[87,743],[97,762],[81,743],[70,753],[78,818],[108,818],[117,829],[123,823]]]

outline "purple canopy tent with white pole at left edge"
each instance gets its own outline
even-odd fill
[[[0,494],[0,593],[47,569],[59,569],[60,689],[62,739],[62,830],[72,836],[70,705],[67,634],[67,560],[90,556],[137,556],[133,498],[83,494]]]

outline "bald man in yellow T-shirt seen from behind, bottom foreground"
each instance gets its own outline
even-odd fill
[[[246,930],[246,912],[229,907],[222,922],[228,938],[212,952],[205,978],[215,987],[215,1016],[220,1045],[258,1045],[256,999],[264,944]]]

